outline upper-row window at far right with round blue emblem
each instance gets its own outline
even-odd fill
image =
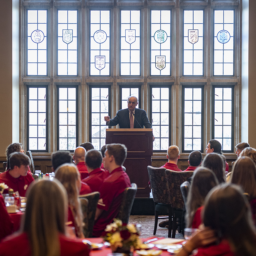
[[[214,10],[214,76],[234,75],[234,10]]]

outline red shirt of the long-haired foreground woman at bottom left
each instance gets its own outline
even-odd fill
[[[66,237],[59,233],[60,256],[89,256],[90,249],[81,240]],[[26,233],[7,237],[0,243],[0,256],[32,256]]]

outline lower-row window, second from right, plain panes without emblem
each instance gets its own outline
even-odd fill
[[[191,14],[192,15],[192,14]],[[202,88],[183,88],[183,151],[203,151],[203,90]]]

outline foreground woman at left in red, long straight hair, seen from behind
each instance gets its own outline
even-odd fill
[[[60,182],[35,182],[27,197],[21,233],[0,243],[0,255],[89,256],[86,244],[65,236],[67,205],[67,193]]]

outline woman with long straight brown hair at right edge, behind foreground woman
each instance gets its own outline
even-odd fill
[[[252,219],[256,224],[256,165],[247,156],[240,156],[231,174],[231,183],[240,185],[250,200]]]

